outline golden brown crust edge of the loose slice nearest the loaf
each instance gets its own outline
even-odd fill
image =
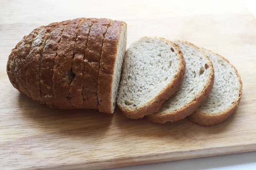
[[[160,39],[166,40],[164,38],[160,38]],[[166,40],[166,41],[169,41],[169,40]],[[169,41],[169,42],[171,42],[171,41]],[[170,96],[172,96],[172,94],[174,94],[180,87],[180,84],[181,84],[184,74],[185,74],[186,62],[185,62],[183,54],[180,51],[180,48],[178,47],[178,45],[176,45],[173,42],[171,42],[171,43],[175,45],[175,48],[181,57],[180,70],[177,73],[177,77],[171,83],[169,83],[169,85],[166,89],[164,89],[158,96],[156,96],[150,103],[148,103],[148,105],[144,106],[143,108],[140,108],[137,111],[126,111],[126,110],[120,108],[120,110],[126,117],[131,118],[131,119],[139,119],[139,118],[143,118],[145,115],[152,114],[154,112],[159,111],[159,109],[162,107],[163,103]]]

